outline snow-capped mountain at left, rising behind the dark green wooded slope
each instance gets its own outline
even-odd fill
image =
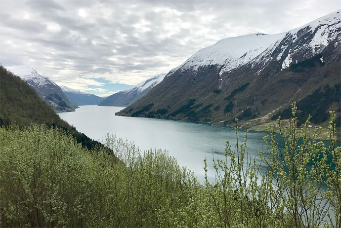
[[[21,77],[27,84],[34,88],[38,95],[57,112],[73,112],[77,105],[73,104],[64,94],[62,89],[51,79],[41,76],[32,68],[19,66],[11,72]]]

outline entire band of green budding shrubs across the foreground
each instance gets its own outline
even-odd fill
[[[272,133],[265,137],[267,171],[247,157],[247,135],[237,135],[235,150],[227,142],[225,159],[213,160],[214,183],[198,183],[165,151],[140,152],[114,136],[105,146],[120,161],[64,130],[1,127],[0,227],[340,227],[341,148],[331,114],[330,147],[315,141],[318,132],[308,140],[309,121],[297,129],[296,117],[281,128],[284,150]]]

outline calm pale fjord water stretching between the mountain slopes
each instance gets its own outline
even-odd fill
[[[222,158],[225,153],[225,141],[228,140],[233,149],[236,143],[235,130],[231,127],[116,116],[115,113],[122,109],[123,107],[88,105],[80,106],[76,112],[59,113],[59,116],[95,140],[101,140],[107,133],[113,133],[118,138],[135,142],[141,150],[166,149],[181,166],[191,169],[201,181],[205,175],[203,160],[207,158],[208,175],[214,180],[213,153],[215,158]],[[240,141],[244,134],[245,130],[240,129]],[[257,131],[248,133],[249,156],[257,157],[264,147],[262,137],[265,135],[265,132]]]

